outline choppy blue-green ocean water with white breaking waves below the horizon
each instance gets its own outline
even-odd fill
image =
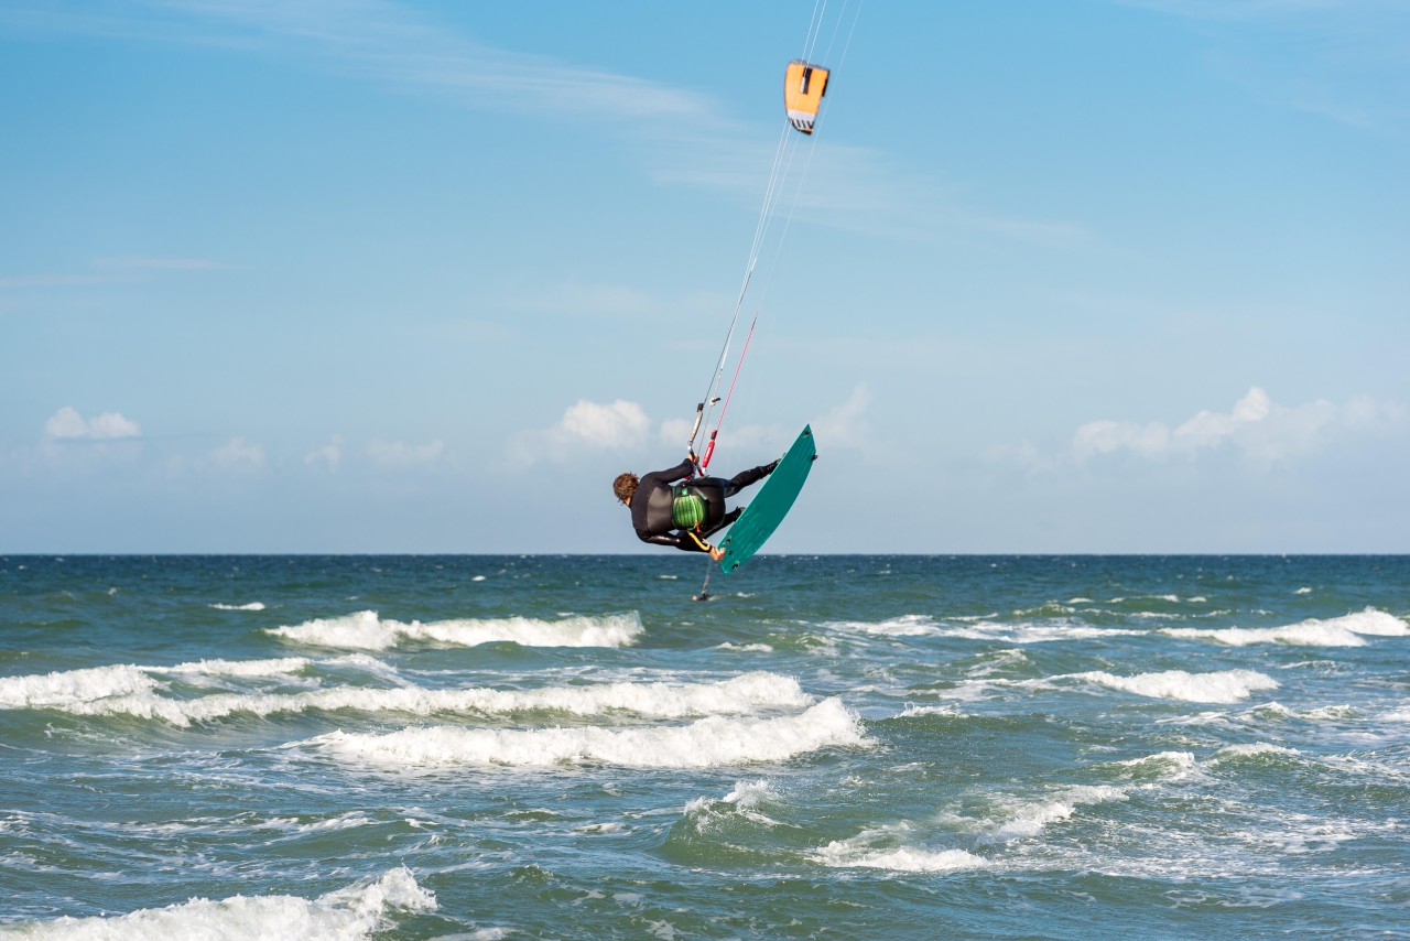
[[[0,937],[1410,937],[1410,557],[0,557]]]

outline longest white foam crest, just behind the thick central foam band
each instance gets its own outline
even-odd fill
[[[759,708],[795,708],[811,704],[798,681],[774,673],[744,673],[718,683],[599,683],[540,690],[494,690],[485,687],[429,690],[419,686],[393,690],[341,686],[292,694],[216,694],[173,700],[152,693],[73,703],[66,708],[80,715],[127,714],[165,720],[173,725],[224,718],[234,712],[274,715],[307,710],[358,710],[362,712],[506,714],[551,710],[574,715],[602,715],[612,711],[651,718],[691,715],[736,715]]]

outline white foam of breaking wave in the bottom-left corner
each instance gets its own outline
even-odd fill
[[[399,913],[434,911],[436,896],[416,885],[406,868],[358,882],[314,900],[298,896],[192,899],[165,909],[123,916],[56,918],[11,925],[6,934],[55,941],[145,938],[300,938],[350,941],[393,925]]]

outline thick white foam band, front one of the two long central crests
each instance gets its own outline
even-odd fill
[[[860,721],[830,698],[778,718],[709,717],[689,725],[629,728],[407,728],[385,735],[330,732],[302,742],[350,762],[386,767],[582,762],[626,767],[718,767],[781,762],[822,748],[866,745]]]

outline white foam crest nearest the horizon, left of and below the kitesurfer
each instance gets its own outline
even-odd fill
[[[623,648],[636,642],[643,626],[636,612],[596,618],[570,617],[563,621],[488,618],[403,624],[382,619],[375,611],[358,611],[341,618],[319,618],[266,631],[296,643],[385,650],[403,641],[467,648],[506,641],[537,648]]]

